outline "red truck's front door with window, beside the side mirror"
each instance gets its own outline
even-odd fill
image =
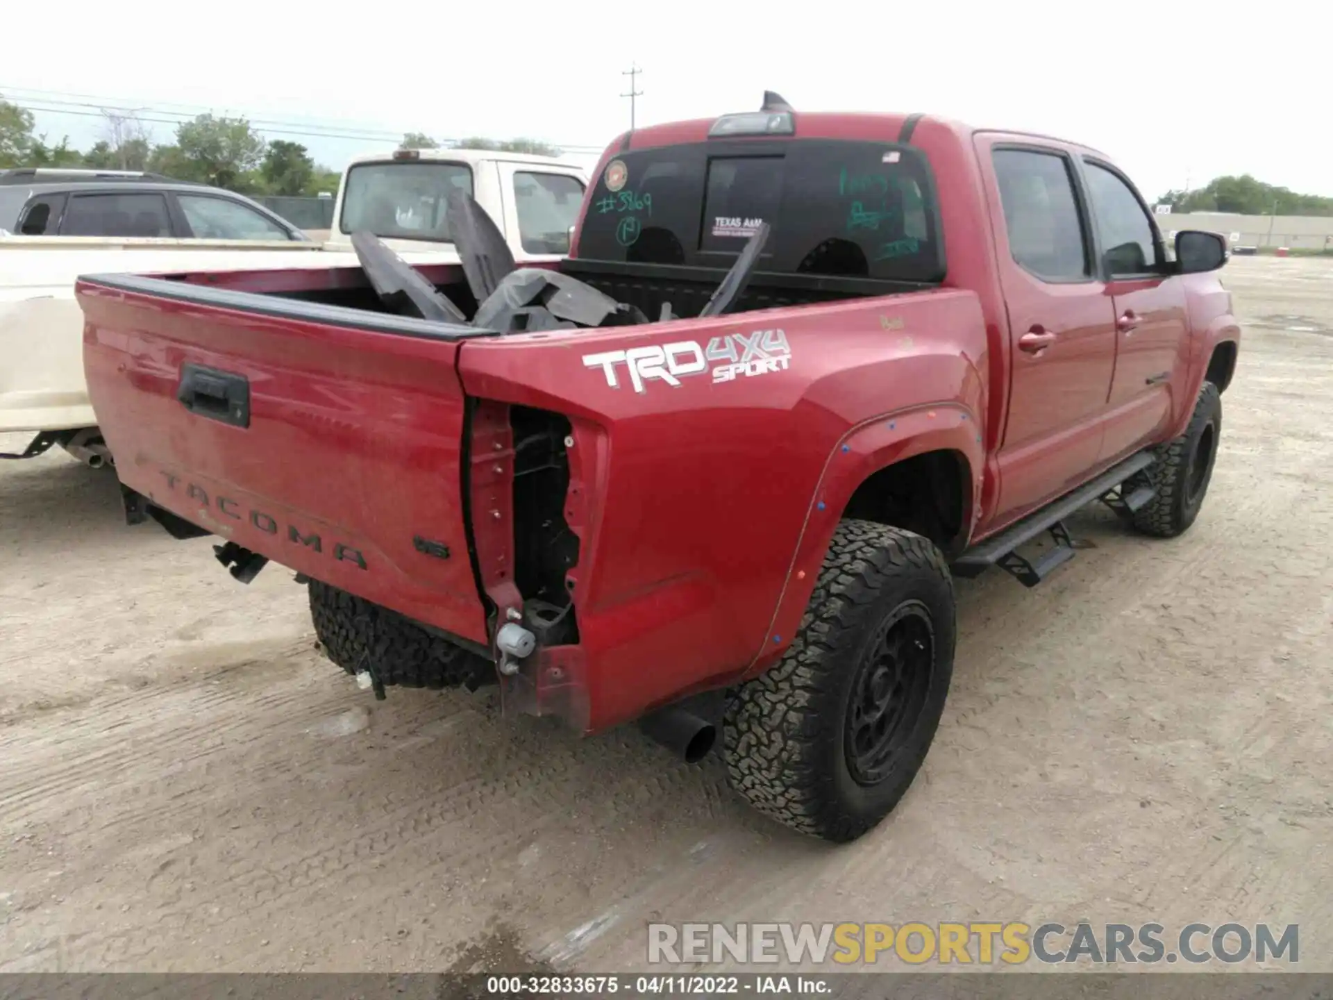
[[[1084,157],[1098,269],[1116,309],[1116,375],[1110,384],[1102,459],[1146,444],[1172,413],[1185,383],[1185,288],[1168,271],[1152,215],[1114,167]]]

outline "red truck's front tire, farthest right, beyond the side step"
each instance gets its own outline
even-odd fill
[[[1157,461],[1148,467],[1157,495],[1134,511],[1134,528],[1145,535],[1173,539],[1194,523],[1213,479],[1221,436],[1222,395],[1213,383],[1205,381],[1185,433],[1161,445]]]

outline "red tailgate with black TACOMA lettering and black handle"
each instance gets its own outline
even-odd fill
[[[209,532],[487,641],[463,503],[467,328],[155,279],[77,285],[131,489]]]

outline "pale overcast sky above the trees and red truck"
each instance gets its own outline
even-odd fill
[[[39,5],[5,13],[0,93],[52,108],[36,112],[39,131],[80,147],[101,137],[99,105],[128,104],[143,119],[213,111],[360,133],[267,131],[331,167],[408,129],[600,149],[629,124],[621,71],[637,63],[640,124],[756,108],[768,88],[797,111],[926,111],[1060,135],[1118,160],[1149,199],[1221,173],[1333,195],[1326,3],[72,0],[59,12],[59,33]],[[171,139],[172,125],[147,124]]]

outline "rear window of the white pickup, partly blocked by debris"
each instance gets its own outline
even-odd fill
[[[339,228],[399,240],[452,243],[447,211],[455,191],[473,193],[472,168],[439,160],[361,163],[347,173]]]

